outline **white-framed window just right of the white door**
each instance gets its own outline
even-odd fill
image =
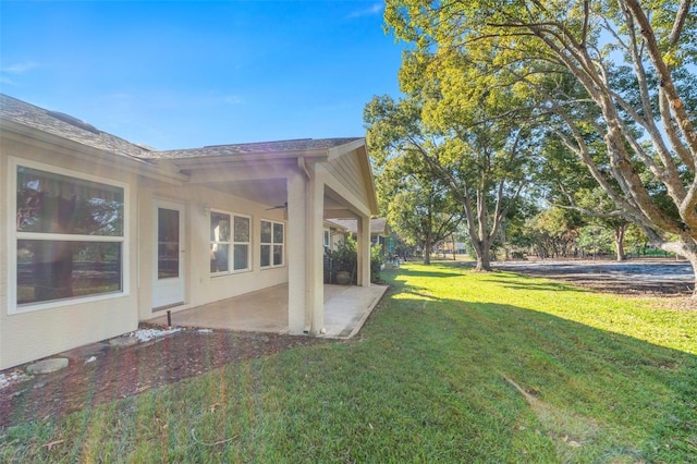
[[[215,274],[249,270],[252,221],[247,216],[211,211],[210,272]],[[232,262],[232,268],[230,267]]]

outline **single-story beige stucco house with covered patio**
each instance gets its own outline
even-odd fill
[[[158,151],[0,94],[0,369],[283,284],[319,335],[325,221],[369,286],[376,212],[363,138]]]

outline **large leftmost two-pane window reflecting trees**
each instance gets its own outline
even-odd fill
[[[124,292],[125,186],[13,163],[10,310]]]

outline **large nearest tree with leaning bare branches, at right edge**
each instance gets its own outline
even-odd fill
[[[413,44],[407,53],[426,62],[428,75],[442,74],[441,63],[466,63],[463,76],[484,59],[492,63],[490,86],[536,102],[546,129],[616,205],[614,215],[697,270],[690,0],[388,0],[386,22]]]

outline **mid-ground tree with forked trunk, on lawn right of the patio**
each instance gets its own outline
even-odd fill
[[[435,94],[433,88],[430,95]],[[430,114],[438,113],[432,106]],[[455,118],[425,124],[421,97],[375,97],[364,111],[367,142],[378,164],[406,158],[444,185],[464,210],[478,270],[491,270],[490,248],[502,220],[526,184],[526,132],[498,122],[465,130]]]

